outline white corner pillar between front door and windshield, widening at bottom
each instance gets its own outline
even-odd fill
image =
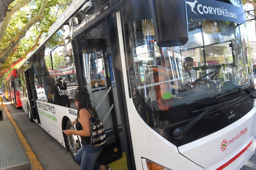
[[[182,156],[175,145],[171,144],[153,129],[149,128],[139,116],[133,104],[133,99],[129,98],[120,12],[117,12],[117,29],[123,69],[125,97],[127,106],[129,107],[128,116],[136,169],[143,169],[142,157],[173,170],[203,169],[186,157]]]

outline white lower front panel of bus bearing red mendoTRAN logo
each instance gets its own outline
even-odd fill
[[[248,152],[247,156],[250,156],[255,149],[254,137],[252,135],[256,118],[255,112],[256,108],[254,107],[244,117],[231,125],[196,141],[182,145],[178,147],[178,150],[188,159],[205,169],[216,169],[220,167],[253,141],[253,144],[246,151]],[[225,150],[221,149],[223,140],[227,141]],[[246,157],[242,159],[242,157],[244,156],[241,155],[241,158],[239,156],[239,161],[236,163],[238,166],[233,167],[233,169],[239,168],[240,164],[243,165],[245,163],[244,161],[250,158]]]

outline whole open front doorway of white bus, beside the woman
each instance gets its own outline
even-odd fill
[[[72,40],[75,45],[74,57],[79,90],[87,90],[98,117],[103,123],[107,145],[99,162],[107,165],[122,162],[127,168],[126,149],[124,147],[119,101],[111,62],[111,50],[107,33],[107,24],[103,20],[94,29],[82,33]],[[79,65],[79,66],[78,66]],[[120,168],[120,167],[119,167]]]

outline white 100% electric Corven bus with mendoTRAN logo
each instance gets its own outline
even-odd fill
[[[76,90],[112,169],[233,170],[256,147],[242,0],[74,0],[17,74],[29,119],[73,158],[80,137],[62,130],[75,128]]]

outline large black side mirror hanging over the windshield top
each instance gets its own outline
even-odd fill
[[[149,0],[159,47],[185,45],[189,40],[186,0]]]

